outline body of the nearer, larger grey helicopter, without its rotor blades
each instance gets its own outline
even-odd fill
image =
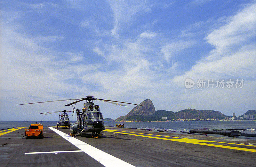
[[[80,133],[98,133],[105,129],[104,119],[100,112],[99,105],[94,105],[93,102],[84,103],[83,111],[76,111],[77,122],[70,125],[70,131],[73,134]]]

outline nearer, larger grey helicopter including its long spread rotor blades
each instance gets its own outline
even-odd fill
[[[106,100],[106,99],[97,99],[93,98],[93,96],[86,96],[85,98],[80,99],[66,99],[66,100],[76,100],[75,102],[71,102],[67,104],[66,106],[70,106],[73,104],[76,105],[77,102],[86,101],[84,103],[84,108],[82,112],[80,112],[79,109],[76,109],[76,123],[70,124],[70,131],[72,131],[72,134],[75,135],[76,133],[85,135],[86,133],[92,133],[93,135],[99,135],[101,134],[101,131],[105,129],[104,126],[104,119],[100,112],[100,106],[95,105],[93,103],[93,100],[100,100],[103,102],[109,102],[112,104],[116,104],[119,106],[126,106],[123,104],[119,104],[116,102],[119,101],[113,101],[113,100]],[[66,101],[66,100],[54,100],[54,101],[47,101],[47,102],[57,102],[57,101]],[[26,103],[26,104],[34,104],[34,103],[42,103],[42,102],[33,102],[33,103]],[[125,104],[133,104],[128,102],[120,102]],[[18,105],[24,105],[24,104],[18,104]],[[139,105],[139,104],[133,104],[133,105]],[[143,105],[140,105],[143,106]],[[73,107],[73,115],[75,112],[75,107]]]

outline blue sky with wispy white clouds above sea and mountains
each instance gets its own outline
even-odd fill
[[[0,4],[0,121],[57,120],[39,113],[72,110],[69,101],[16,104],[86,95],[132,103],[149,98],[156,110],[173,112],[256,109],[256,1]],[[187,89],[186,78],[244,83]],[[134,107],[97,104],[114,119]]]

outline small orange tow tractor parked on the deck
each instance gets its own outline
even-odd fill
[[[44,138],[44,130],[42,124],[31,124],[28,129],[25,129],[27,139],[38,136],[39,139]]]

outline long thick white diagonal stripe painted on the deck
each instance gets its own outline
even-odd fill
[[[112,156],[108,153],[105,153],[104,151],[101,151],[98,148],[92,147],[91,145],[78,140],[74,137],[69,136],[66,133],[63,133],[53,127],[48,127],[50,129],[52,129],[54,132],[56,132],[57,134],[59,134],[61,137],[63,137],[64,139],[68,140],[70,143],[72,143],[73,145],[75,145],[77,148],[81,149],[82,151],[84,151],[86,154],[88,154],[89,156],[91,156],[93,159],[95,159],[96,161],[98,161],[99,163],[101,163],[104,166],[107,167],[113,167],[113,166],[133,166],[130,163],[127,163],[121,159],[116,158],[115,156]]]

